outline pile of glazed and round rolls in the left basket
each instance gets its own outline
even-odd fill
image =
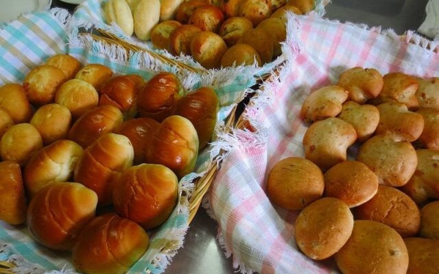
[[[124,273],[176,207],[218,110],[213,89],[186,95],[172,73],[145,82],[52,56],[0,86],[0,220],[71,251],[78,271]]]

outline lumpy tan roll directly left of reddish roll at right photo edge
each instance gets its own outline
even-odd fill
[[[407,110],[404,103],[381,103],[377,108],[379,124],[375,134],[391,136],[395,141],[413,142],[423,132],[423,116]]]

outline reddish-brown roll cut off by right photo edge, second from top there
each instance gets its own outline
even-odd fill
[[[439,110],[420,108],[416,113],[423,116],[424,129],[418,142],[425,148],[439,150]]]

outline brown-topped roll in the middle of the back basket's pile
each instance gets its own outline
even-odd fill
[[[230,2],[230,1],[229,1]],[[245,17],[230,17],[219,28],[219,36],[227,47],[235,45],[244,32],[253,28],[253,23]]]

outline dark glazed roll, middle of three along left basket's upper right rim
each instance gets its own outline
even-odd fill
[[[163,121],[171,114],[172,105],[180,98],[182,86],[172,73],[158,73],[139,92],[137,106],[140,116]]]

